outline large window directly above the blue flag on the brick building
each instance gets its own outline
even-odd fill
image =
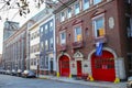
[[[96,37],[105,35],[105,19],[102,15],[99,15],[96,19],[94,19],[94,30]]]

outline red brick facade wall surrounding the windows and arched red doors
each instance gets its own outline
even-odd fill
[[[127,24],[125,24],[124,7],[125,4],[123,0],[120,0],[120,1],[119,0],[110,0],[110,1],[103,0],[97,6],[90,4],[90,8],[88,10],[82,11],[82,9],[80,9],[79,14],[77,15],[73,14],[70,19],[65,19],[64,22],[59,21],[59,13],[63,10],[56,12],[56,37],[57,37],[56,45],[57,45],[58,63],[59,63],[59,56],[66,55],[66,54],[70,57],[70,62],[76,61],[74,55],[78,51],[84,55],[82,61],[87,61],[90,53],[94,50],[96,50],[96,43],[102,41],[103,47],[114,51],[117,58],[123,58],[124,65],[127,65],[128,40],[125,35]],[[100,14],[103,14],[103,18],[105,18],[105,33],[106,34],[101,38],[96,38],[95,32],[94,32],[94,24],[92,24],[94,20],[92,19]],[[113,24],[112,28],[111,28],[111,18],[112,18],[112,24]],[[82,41],[80,43],[74,43],[74,28],[77,25],[81,26]],[[63,46],[61,46],[61,36],[59,36],[59,33],[62,31],[66,32],[66,44]],[[117,58],[114,59],[117,61]],[[70,70],[73,72],[72,68]],[[125,66],[125,70],[128,73],[127,66]],[[73,75],[72,72],[70,74]],[[59,65],[58,65],[58,73],[61,73]],[[82,74],[89,74],[89,73],[82,72]]]

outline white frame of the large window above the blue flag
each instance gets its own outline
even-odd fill
[[[103,20],[103,30],[105,30],[105,13],[99,14],[99,15],[92,18],[92,26],[94,26],[95,37],[101,37],[101,36],[98,36],[98,35],[97,35],[96,21],[97,21],[98,19],[102,19],[102,20]],[[105,34],[106,34],[106,32],[105,32]]]

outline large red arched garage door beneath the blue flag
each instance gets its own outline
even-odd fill
[[[114,56],[102,51],[101,56],[91,55],[91,70],[95,80],[113,81],[116,79]]]

